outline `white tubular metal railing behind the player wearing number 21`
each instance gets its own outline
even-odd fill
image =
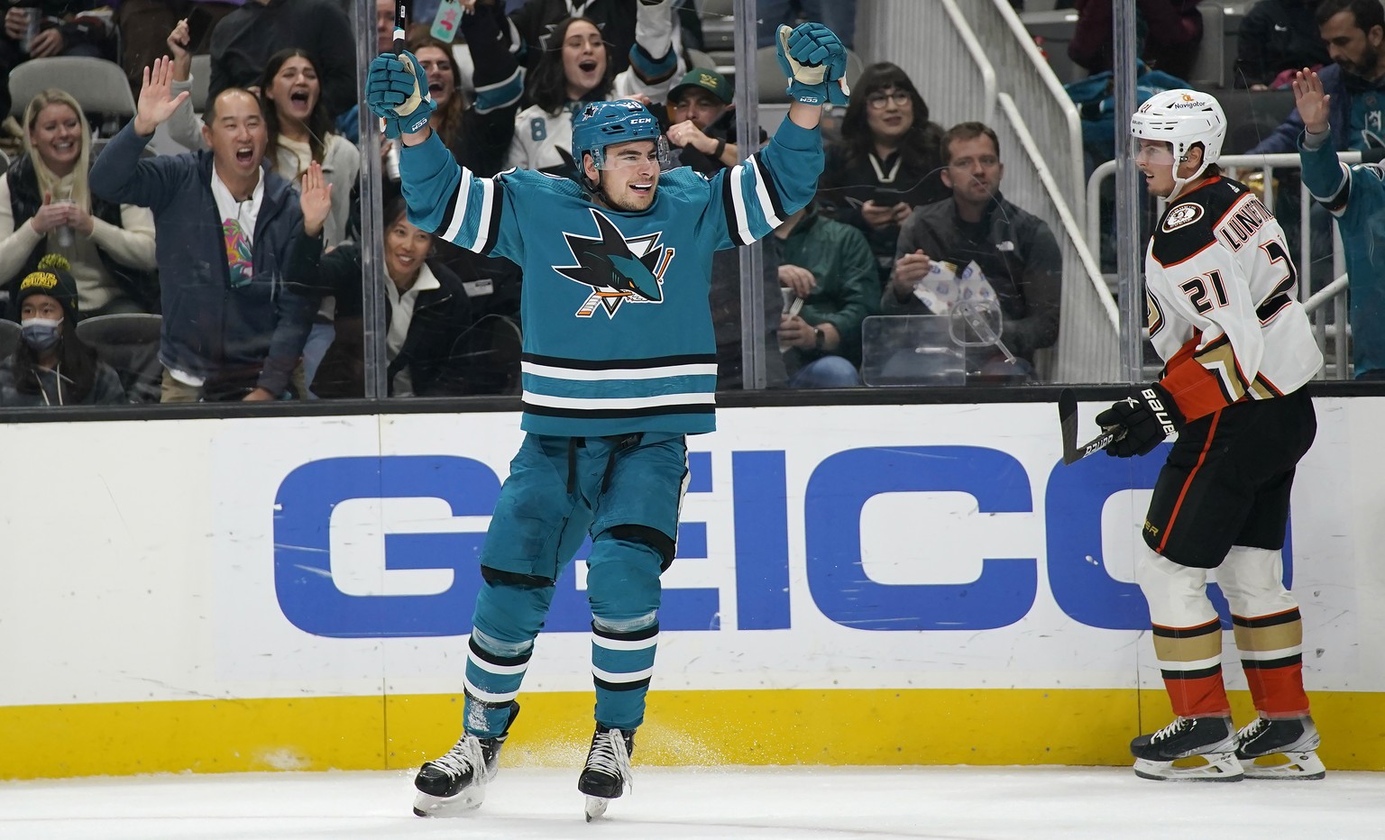
[[[1338,159],[1342,163],[1352,165],[1360,163],[1360,152],[1338,152]],[[1299,169],[1301,161],[1298,152],[1285,152],[1277,155],[1223,155],[1217,158],[1217,166],[1227,172],[1230,177],[1237,180],[1245,180],[1244,176],[1248,172],[1260,173],[1260,183],[1263,184],[1262,201],[1265,206],[1273,210],[1274,208],[1274,172],[1276,169]],[[1096,246],[1101,241],[1101,187],[1102,183],[1115,174],[1116,163],[1115,161],[1107,161],[1101,163],[1091,172],[1091,177],[1087,179],[1087,220],[1084,238],[1087,242]],[[1161,199],[1162,210],[1162,199]],[[1309,194],[1307,187],[1303,185],[1302,179],[1299,180],[1299,237],[1298,237],[1298,255],[1296,264],[1299,266],[1299,285],[1298,285],[1298,299],[1303,302],[1303,307],[1309,313],[1309,318],[1313,324],[1313,335],[1317,338],[1319,347],[1328,357],[1328,365],[1323,368],[1320,378],[1335,378],[1335,379],[1349,379],[1352,369],[1350,351],[1348,340],[1350,336],[1350,329],[1348,327],[1348,282],[1346,275],[1342,273],[1342,241],[1337,234],[1334,224],[1332,234],[1332,253],[1334,253],[1334,268],[1331,284],[1325,285],[1323,289],[1310,295],[1309,285],[1312,273],[1306,268],[1313,264],[1313,241],[1312,241],[1312,220],[1310,213],[1313,209],[1313,197]],[[1331,317],[1330,317],[1331,313]]]

